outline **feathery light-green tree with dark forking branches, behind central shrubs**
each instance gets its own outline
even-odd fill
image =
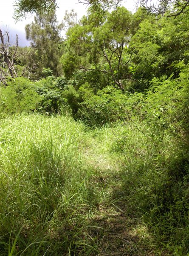
[[[131,13],[124,7],[111,13],[90,9],[82,24],[67,32],[68,51],[62,56],[65,73],[71,75],[76,69],[99,71],[110,75],[113,82],[124,89],[121,79],[127,76],[131,59],[127,51],[131,20]]]

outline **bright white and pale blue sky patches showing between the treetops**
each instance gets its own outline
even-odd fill
[[[28,17],[25,17],[22,21],[15,23],[15,20],[13,19],[14,2],[15,0],[0,0],[0,29],[5,31],[6,25],[8,25],[11,43],[15,43],[16,34],[18,34],[19,46],[29,46],[29,41],[25,39],[25,25],[34,20],[34,15],[28,15]],[[135,12],[136,2],[137,0],[124,0],[122,5],[129,11]],[[87,12],[87,6],[78,3],[78,0],[58,0],[58,6],[59,8],[56,9],[56,15],[59,22],[63,20],[66,10],[69,11],[74,9],[79,18]]]

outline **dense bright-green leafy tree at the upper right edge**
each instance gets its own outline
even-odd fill
[[[160,17],[143,20],[138,31],[130,40],[133,51],[132,78],[139,90],[147,89],[154,77],[173,76],[177,78],[175,64],[188,62],[189,13],[177,17]]]

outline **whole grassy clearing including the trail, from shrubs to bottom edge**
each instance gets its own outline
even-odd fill
[[[152,133],[0,119],[0,255],[187,255],[188,176],[174,137]]]

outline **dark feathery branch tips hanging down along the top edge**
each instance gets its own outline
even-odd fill
[[[78,0],[79,3],[98,6],[103,9],[117,7],[122,0]],[[159,0],[154,4],[152,0],[138,0],[138,3],[147,9],[150,14],[178,16],[189,11],[189,0]],[[150,3],[150,4],[149,4]],[[14,18],[20,20],[28,13],[47,14],[57,7],[57,0],[16,0],[14,5]],[[168,12],[169,11],[169,12]]]

